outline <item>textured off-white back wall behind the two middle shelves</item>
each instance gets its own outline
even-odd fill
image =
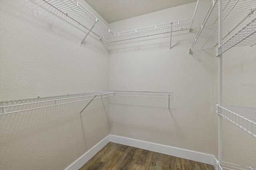
[[[195,5],[163,10],[155,18],[148,14],[110,23],[110,27],[122,31],[132,29],[133,22],[144,27],[157,24],[158,18],[169,22],[190,18]],[[169,34],[110,45],[111,90],[173,92],[171,112],[167,99],[111,98],[110,134],[213,154],[214,57],[212,51],[189,55],[194,37],[188,30],[173,33],[171,51]]]

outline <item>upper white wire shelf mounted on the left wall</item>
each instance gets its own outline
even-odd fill
[[[92,33],[101,36],[113,35],[114,33],[98,20],[92,13],[90,13],[84,6],[82,6],[76,0],[44,0],[66,16],[70,17],[72,20],[78,22],[80,25],[84,26],[86,29],[90,30],[92,28]]]

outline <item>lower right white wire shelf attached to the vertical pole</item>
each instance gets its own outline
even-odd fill
[[[256,137],[256,106],[216,105],[216,113]]]

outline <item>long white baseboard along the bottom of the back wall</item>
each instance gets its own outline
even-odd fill
[[[128,146],[136,147],[136,148],[140,148],[140,149],[151,150],[154,152],[168,154],[168,155],[185,158],[185,159],[189,159],[189,160],[194,160],[197,162],[202,162],[202,163],[210,164],[213,166],[216,164],[213,155],[204,154],[201,152],[195,152],[195,151],[186,150],[186,149],[169,147],[166,145],[160,145],[160,144],[156,144],[156,143],[139,141],[136,139],[129,139],[126,137],[120,137],[120,136],[115,136],[115,135],[110,135],[110,142],[119,143],[122,145],[128,145]]]

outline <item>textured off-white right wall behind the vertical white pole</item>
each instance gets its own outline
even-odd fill
[[[214,96],[218,104],[218,57],[214,60]],[[256,106],[256,49],[233,47],[223,54],[223,104]],[[256,167],[256,140],[222,118],[222,159]],[[254,129],[256,130],[256,129]],[[218,115],[214,112],[214,156],[218,158]]]

